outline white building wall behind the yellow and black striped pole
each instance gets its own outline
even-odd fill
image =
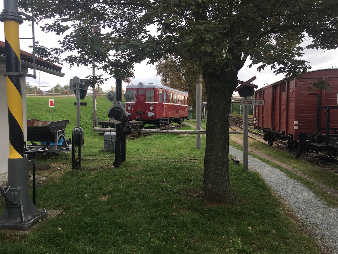
[[[28,72],[28,68],[21,67],[22,72]],[[6,77],[3,73],[6,72],[5,62],[0,62],[0,185],[4,186],[7,184],[7,158],[9,155],[9,137],[8,137],[8,107],[7,107],[7,85]],[[22,77],[22,108],[23,108],[23,124],[24,124],[24,139],[27,141],[26,133],[26,79]]]

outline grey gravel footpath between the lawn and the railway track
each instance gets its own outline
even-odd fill
[[[229,146],[229,154],[243,161],[243,152]],[[320,244],[338,254],[338,209],[323,203],[311,190],[286,174],[264,162],[248,157],[248,165],[259,172],[264,181],[286,200],[298,217],[312,225],[314,235]]]

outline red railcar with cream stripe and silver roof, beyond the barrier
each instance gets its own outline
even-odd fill
[[[142,82],[127,85],[126,91],[132,92],[136,98],[126,102],[126,110],[130,113],[128,120],[160,126],[172,122],[182,123],[188,118],[188,92]]]

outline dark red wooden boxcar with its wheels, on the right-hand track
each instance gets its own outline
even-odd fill
[[[312,89],[325,80],[329,89]],[[269,145],[287,141],[287,149],[299,157],[302,152],[338,154],[338,69],[321,69],[303,74],[301,79],[281,80],[255,91],[255,129],[264,132]]]

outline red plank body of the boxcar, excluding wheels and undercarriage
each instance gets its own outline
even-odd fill
[[[309,91],[311,82],[324,79],[330,89]],[[301,79],[280,81],[255,92],[256,99],[265,100],[265,105],[255,107],[255,128],[285,132],[298,139],[299,134],[316,133],[317,97],[319,106],[337,106],[338,69],[316,70],[305,73]],[[314,95],[311,95],[314,94]],[[325,127],[325,109],[320,109],[319,127]],[[338,109],[331,110],[330,127],[338,128]],[[324,130],[319,131],[324,133]]]

